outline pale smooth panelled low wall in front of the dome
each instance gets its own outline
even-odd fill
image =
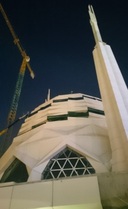
[[[101,209],[97,178],[0,186],[1,209]]]

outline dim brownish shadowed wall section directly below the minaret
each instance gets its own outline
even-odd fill
[[[103,209],[128,209],[128,173],[98,174]]]

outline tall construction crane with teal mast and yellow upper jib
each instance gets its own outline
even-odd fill
[[[14,122],[14,120],[16,118],[16,112],[17,112],[17,108],[18,108],[18,102],[19,102],[19,98],[20,98],[20,94],[21,94],[21,90],[22,90],[22,83],[23,83],[26,67],[28,68],[28,70],[30,72],[30,76],[32,78],[34,78],[34,72],[31,69],[31,66],[29,64],[30,58],[26,54],[25,50],[22,48],[20,40],[16,36],[15,31],[14,31],[14,29],[13,29],[13,27],[12,27],[12,25],[11,25],[3,7],[2,7],[2,4],[0,4],[0,12],[1,12],[1,14],[2,14],[9,30],[10,30],[10,32],[11,32],[14,44],[18,47],[18,49],[20,51],[20,54],[23,57],[22,64],[21,64],[21,67],[20,67],[20,71],[19,71],[19,74],[18,74],[18,80],[16,82],[15,92],[14,92],[14,95],[13,95],[10,111],[9,111],[8,118],[7,118],[7,127],[8,127]],[[5,130],[8,130],[8,129],[5,129]],[[1,133],[4,134],[5,132],[6,131],[3,131]]]

